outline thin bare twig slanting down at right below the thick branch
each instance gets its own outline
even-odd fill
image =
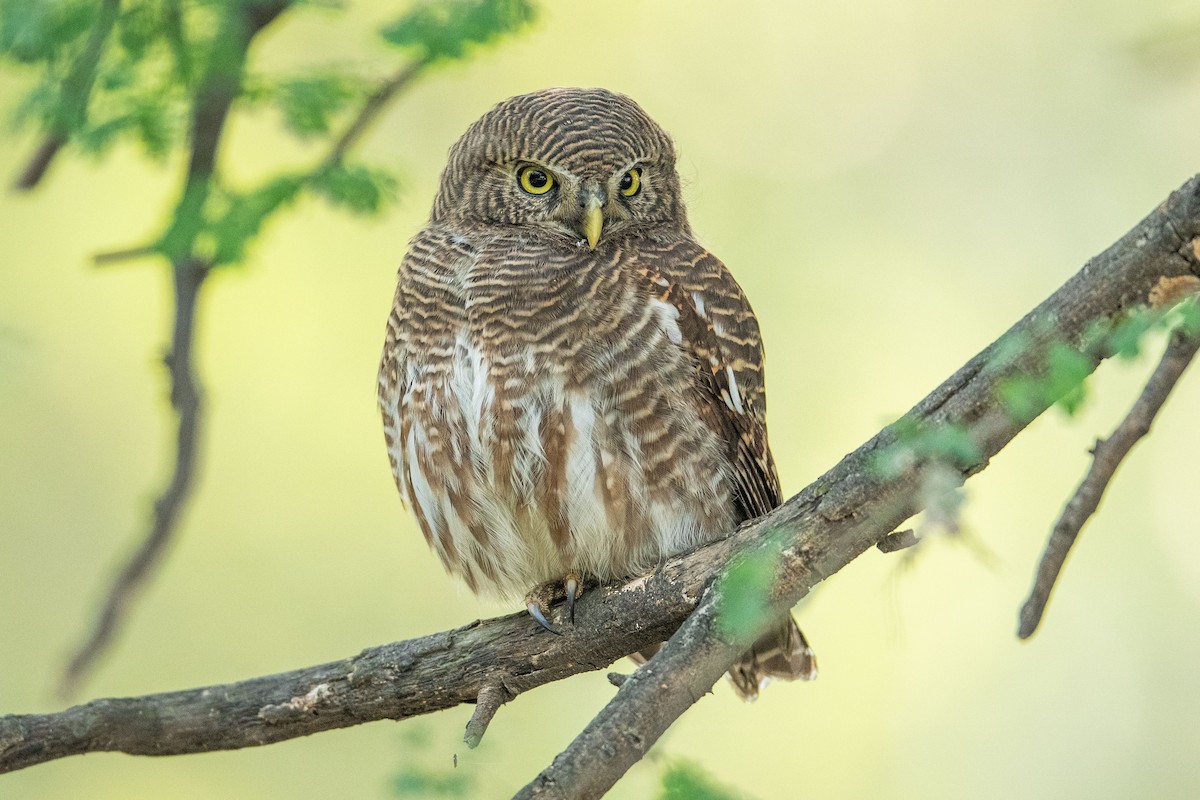
[[[1112,480],[1117,467],[1129,455],[1133,446],[1150,433],[1154,416],[1163,408],[1163,403],[1166,402],[1183,371],[1192,363],[1198,349],[1200,349],[1200,336],[1175,332],[1166,344],[1162,361],[1158,362],[1150,380],[1146,381],[1146,386],[1133,408],[1121,420],[1112,435],[1096,443],[1087,475],[1084,476],[1082,482],[1063,507],[1062,515],[1050,534],[1050,540],[1046,542],[1045,552],[1042,554],[1033,589],[1021,607],[1020,626],[1016,631],[1020,638],[1027,639],[1038,630],[1046,602],[1050,600],[1050,593],[1054,591],[1058,573],[1062,571],[1075,539],[1079,537],[1084,524],[1096,513],[1096,509],[1100,505],[1100,498],[1104,497],[1104,491]]]

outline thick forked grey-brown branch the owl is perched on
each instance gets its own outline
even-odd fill
[[[1164,276],[1200,275],[1193,249],[1198,235],[1200,178],[1092,259],[1006,337],[1068,342],[1084,350],[1094,320],[1142,305]],[[985,349],[901,421],[965,427],[978,453],[956,465],[964,480],[983,470],[1055,401],[1043,398],[1034,414],[1022,419],[1003,410],[997,401],[1002,381],[1044,365],[1036,347],[1015,357],[1000,357],[1002,349],[1002,342]],[[1096,363],[1098,359],[1092,368]],[[721,595],[728,589],[713,577],[731,559],[764,557],[778,564],[762,615],[769,624],[920,510],[924,474],[946,465],[918,459],[899,474],[881,470],[877,457],[898,444],[900,431],[901,423],[881,431],[800,494],[728,539],[674,557],[646,578],[588,593],[576,608],[576,625],[562,625],[562,636],[547,634],[520,614],[269,678],[94,700],[59,714],[0,717],[0,771],[95,751],[168,754],[247,747],[476,698],[484,708],[473,716],[468,736],[478,740],[503,702],[570,674],[601,669],[678,627],[517,795],[598,798],[712,688],[755,637],[755,631],[734,633],[721,624]],[[562,607],[556,612],[562,615]]]

